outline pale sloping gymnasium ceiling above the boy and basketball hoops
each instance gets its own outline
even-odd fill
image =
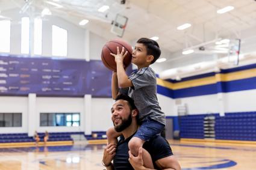
[[[63,7],[57,8],[48,2]],[[181,67],[201,61],[212,61],[223,55],[213,53],[192,53],[182,55],[184,49],[197,47],[209,41],[225,38],[241,38],[242,50],[246,53],[256,49],[256,1],[254,0],[0,0],[0,15],[17,8],[20,14],[40,15],[48,7],[52,15],[62,17],[78,25],[80,20],[88,19],[83,28],[89,29],[105,38],[113,38],[110,33],[111,21],[116,14],[128,17],[123,38],[135,42],[139,37],[154,37],[164,49],[167,61],[161,63],[164,70]],[[28,8],[24,10],[24,5]],[[98,9],[102,5],[110,8],[104,13]],[[224,14],[216,11],[233,6]],[[8,16],[7,16],[8,17]],[[177,26],[190,23],[192,26],[178,30]],[[80,25],[78,25],[80,26]]]

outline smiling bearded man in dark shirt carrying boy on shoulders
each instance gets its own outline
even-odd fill
[[[107,170],[152,168],[181,169],[180,164],[172,154],[170,145],[160,135],[145,142],[143,148],[139,149],[139,155],[137,157],[134,157],[128,150],[128,142],[139,127],[137,123],[137,115],[139,113],[133,103],[133,99],[120,94],[116,97],[116,102],[111,108],[111,113],[114,129],[117,132],[121,132],[123,136],[120,137],[117,146],[108,144],[104,149],[102,164]],[[151,156],[152,162],[143,162],[143,160],[148,160],[148,156]],[[112,160],[113,163],[111,163]]]

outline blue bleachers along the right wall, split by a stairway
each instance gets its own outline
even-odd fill
[[[204,139],[204,117],[207,115],[187,115],[180,117],[180,137]],[[256,141],[256,112],[226,113],[215,117],[215,139]]]

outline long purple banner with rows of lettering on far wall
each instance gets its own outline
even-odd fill
[[[101,61],[0,55],[0,95],[111,97],[111,74]]]

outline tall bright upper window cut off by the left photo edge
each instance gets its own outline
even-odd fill
[[[0,52],[10,52],[11,21],[0,20]]]

